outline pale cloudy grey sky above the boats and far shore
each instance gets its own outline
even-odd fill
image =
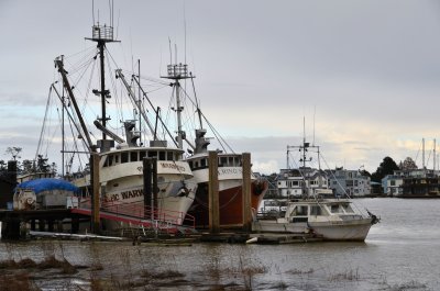
[[[95,0],[95,21],[109,23],[108,3]],[[0,1],[0,159],[10,146],[34,158],[53,60],[94,45],[92,11],[90,0]],[[254,171],[286,168],[304,137],[321,167],[370,172],[386,156],[421,167],[425,138],[433,167],[438,1],[114,0],[113,25],[121,43],[109,49],[127,69],[141,59],[143,75],[161,76],[176,44],[205,115]]]

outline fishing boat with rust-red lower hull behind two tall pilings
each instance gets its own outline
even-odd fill
[[[180,80],[190,79],[193,81],[194,75],[187,70],[187,65],[172,64],[168,65],[168,79],[173,79],[172,83],[175,91],[177,112],[183,110],[180,105]],[[194,87],[194,82],[193,82]],[[187,142],[190,156],[186,157],[194,174],[194,180],[197,182],[197,191],[194,203],[188,210],[188,214],[195,217],[196,226],[204,228],[209,226],[209,200],[208,200],[208,182],[209,182],[209,159],[208,146],[209,138],[206,137],[207,130],[204,128],[205,119],[210,124],[198,107],[198,100],[195,98],[196,104],[195,112],[198,113],[199,127],[193,128],[195,132],[195,143],[188,141],[185,131],[180,128],[182,122],[177,131],[177,141],[179,147],[183,148],[183,142]],[[213,130],[217,133],[217,131]],[[221,136],[218,136],[222,139]],[[227,144],[224,141],[222,144]],[[220,226],[222,227],[237,227],[243,225],[243,209],[242,209],[242,186],[243,186],[243,161],[242,155],[233,153],[231,148],[227,152],[217,150],[218,153],[218,181],[219,181],[219,215]],[[264,194],[268,189],[268,183],[264,179],[258,179],[251,172],[251,208],[256,213]]]

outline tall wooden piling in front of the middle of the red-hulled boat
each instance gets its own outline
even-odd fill
[[[209,232],[220,233],[220,210],[219,210],[219,170],[218,154],[210,150],[208,154],[209,165]]]

